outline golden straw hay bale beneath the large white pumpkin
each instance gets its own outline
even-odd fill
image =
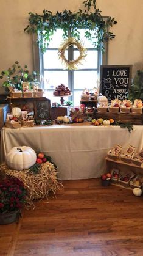
[[[5,175],[15,177],[21,180],[27,189],[28,204],[33,204],[33,200],[41,200],[45,197],[48,198],[49,191],[54,192],[57,190],[57,171],[51,162],[41,164],[40,172],[32,174],[27,170],[14,170],[10,169],[7,164],[1,164],[1,171]]]

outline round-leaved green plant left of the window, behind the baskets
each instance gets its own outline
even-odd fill
[[[1,72],[0,79],[6,78],[6,80],[2,82],[2,86],[6,92],[14,89],[22,91],[23,82],[29,82],[29,86],[32,86],[33,83],[37,82],[36,77],[39,76],[39,73],[37,71],[33,71],[32,74],[30,74],[27,68],[27,65],[24,65],[23,68],[19,65],[18,61],[15,61],[15,64],[13,64],[12,67]]]

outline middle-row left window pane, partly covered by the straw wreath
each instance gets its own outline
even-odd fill
[[[66,59],[68,57],[68,51],[65,51]],[[44,69],[63,69],[63,64],[61,63],[61,60],[58,59],[58,50],[47,50],[46,53],[44,53],[43,56],[44,60]]]

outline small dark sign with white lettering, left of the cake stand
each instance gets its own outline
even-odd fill
[[[37,120],[51,119],[51,102],[49,99],[35,101],[34,118]]]

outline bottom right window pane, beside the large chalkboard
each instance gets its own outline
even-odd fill
[[[74,89],[96,87],[97,71],[74,71]]]

